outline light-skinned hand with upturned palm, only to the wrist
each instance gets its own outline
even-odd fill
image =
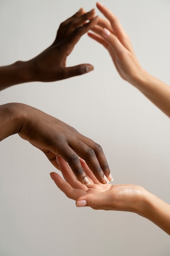
[[[144,188],[127,184],[101,184],[84,160],[80,159],[82,167],[91,181],[91,184],[85,186],[76,179],[64,159],[57,157],[57,162],[65,180],[57,173],[50,173],[51,178],[68,198],[76,201],[77,207],[90,206],[93,209],[141,213],[146,193]]]

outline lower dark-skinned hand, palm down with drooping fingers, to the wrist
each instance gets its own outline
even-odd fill
[[[79,161],[81,157],[100,182],[106,183],[108,179],[112,179],[106,157],[99,144],[55,117],[24,104],[15,104],[19,111],[22,111],[19,115],[21,125],[18,134],[22,139],[42,150],[56,168],[59,168],[56,156],[61,155],[68,162],[77,179],[88,184],[89,180]]]

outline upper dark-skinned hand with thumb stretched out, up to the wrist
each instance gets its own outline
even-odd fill
[[[87,22],[87,20],[90,20]],[[51,82],[77,76],[93,70],[90,64],[66,67],[66,58],[75,44],[89,29],[97,24],[95,9],[85,13],[81,8],[75,15],[61,23],[54,43],[28,63],[32,81]]]

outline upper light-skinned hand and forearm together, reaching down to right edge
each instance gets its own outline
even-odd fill
[[[98,24],[91,29],[93,33],[89,32],[88,36],[107,49],[122,79],[135,86],[170,117],[170,86],[141,67],[117,16],[99,2],[97,8],[106,19],[99,17]]]

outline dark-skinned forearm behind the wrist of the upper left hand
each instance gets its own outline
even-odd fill
[[[11,65],[0,67],[0,90],[31,81],[29,61],[17,61]]]

